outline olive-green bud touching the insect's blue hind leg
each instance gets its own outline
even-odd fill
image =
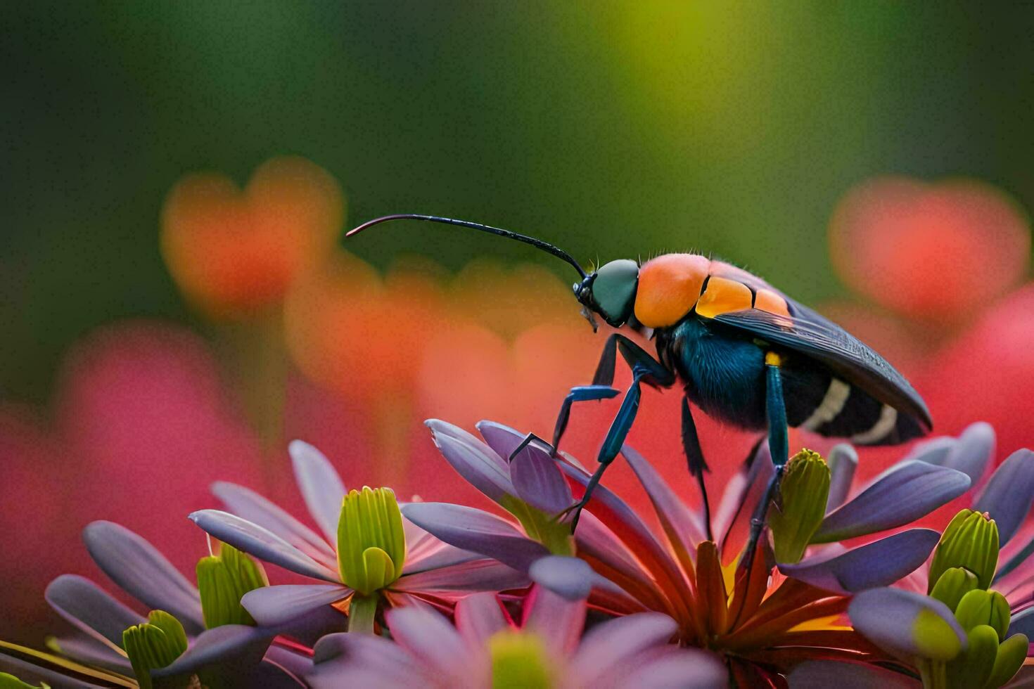
[[[780,483],[779,503],[768,513],[776,561],[799,562],[822,524],[829,497],[829,467],[810,449],[787,464]]]

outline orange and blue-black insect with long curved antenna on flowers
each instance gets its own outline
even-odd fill
[[[360,225],[347,236],[402,219],[470,227],[547,251],[578,271],[581,281],[574,285],[575,296],[594,328],[595,313],[610,325],[627,325],[656,340],[657,359],[629,338],[611,335],[592,384],[573,388],[561,405],[553,434],[554,452],[572,403],[618,394],[611,383],[616,352],[620,351],[632,368],[632,385],[603,441],[599,466],[585,494],[572,505],[572,528],[603,471],[625,442],[643,382],[661,387],[676,382],[683,385],[682,445],[690,471],[703,491],[705,509],[706,464],[687,400],[739,428],[767,430],[777,471],[754,520],[749,559],[753,559],[764,512],[787,462],[788,426],[849,438],[861,445],[902,443],[931,430],[926,405],[882,356],[764,280],[729,263],[698,254],[673,253],[642,265],[629,259],[613,260],[586,273],[566,251],[541,240],[436,216],[387,216]],[[525,443],[534,440],[538,439],[529,436]],[[709,535],[709,524],[707,528]]]

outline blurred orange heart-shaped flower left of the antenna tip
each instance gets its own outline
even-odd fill
[[[165,198],[161,251],[206,313],[248,315],[279,302],[323,258],[343,215],[337,182],[304,158],[265,162],[243,191],[223,175],[188,175]]]

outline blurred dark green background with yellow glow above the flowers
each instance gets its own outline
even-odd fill
[[[6,3],[0,396],[126,316],[191,320],[158,252],[183,174],[306,156],[348,224],[491,222],[583,261],[713,252],[805,303],[873,175],[983,178],[1034,207],[1034,10],[944,3]],[[549,257],[450,228],[348,243],[449,268]]]

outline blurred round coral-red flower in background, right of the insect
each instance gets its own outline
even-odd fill
[[[906,318],[957,323],[1015,286],[1030,260],[1028,219],[975,180],[876,178],[852,189],[829,227],[844,281]]]

